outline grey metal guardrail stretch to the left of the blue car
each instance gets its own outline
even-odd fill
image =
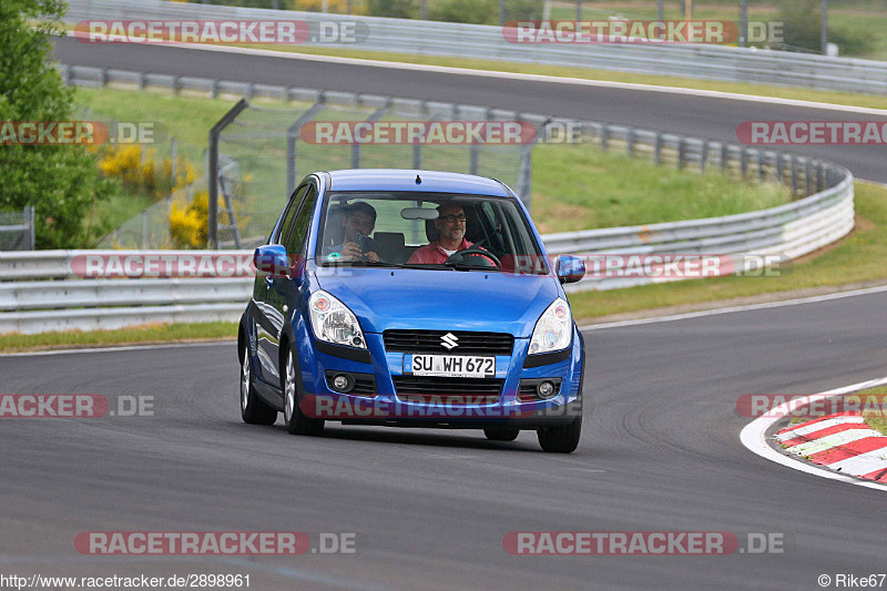
[[[253,277],[236,267],[236,257],[249,252],[162,251],[161,257],[224,257],[224,276],[217,267],[184,277],[110,278],[126,275],[128,257],[145,259],[142,251],[0,252],[0,334],[49,330],[113,329],[152,323],[237,320],[253,293]],[[89,273],[84,258],[114,256],[118,267]],[[41,281],[42,279],[42,281]]]

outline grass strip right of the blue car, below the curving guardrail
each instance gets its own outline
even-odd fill
[[[857,228],[834,248],[796,263],[778,277],[721,277],[643,285],[570,296],[573,314],[591,319],[666,306],[686,306],[805,288],[887,281],[887,188],[856,183]]]

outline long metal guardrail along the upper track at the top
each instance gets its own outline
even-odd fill
[[[500,27],[482,24],[160,0],[69,0],[69,6],[68,22],[89,19],[303,20],[309,24],[360,22],[369,30],[365,40],[349,43],[309,40],[305,44],[887,94],[887,63],[873,60],[700,44],[517,44],[506,41]]]

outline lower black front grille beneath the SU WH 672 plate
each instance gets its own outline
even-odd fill
[[[397,397],[408,403],[492,405],[503,379],[394,376]]]

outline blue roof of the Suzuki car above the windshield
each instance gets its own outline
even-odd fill
[[[421,183],[416,183],[416,176]],[[462,193],[510,196],[499,181],[440,171],[396,169],[353,169],[329,171],[330,191],[417,191],[422,193]]]

